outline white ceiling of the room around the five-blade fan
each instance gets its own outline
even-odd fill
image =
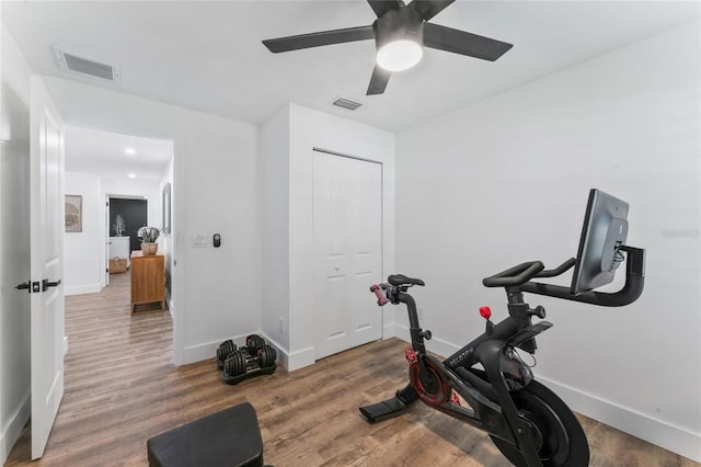
[[[364,0],[3,1],[39,73],[260,124],[287,102],[401,130],[644,37],[698,21],[698,1],[468,1],[432,22],[514,44],[495,62],[426,49],[366,96],[372,41],[272,54],[265,38],[370,24]],[[62,71],[54,46],[116,62],[118,83]],[[674,50],[669,50],[674,53]],[[333,107],[336,96],[364,105]],[[70,122],[68,122],[70,124]],[[108,129],[108,128],[103,128]]]

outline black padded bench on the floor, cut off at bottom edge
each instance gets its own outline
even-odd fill
[[[263,466],[263,440],[253,406],[243,402],[153,436],[152,467]]]

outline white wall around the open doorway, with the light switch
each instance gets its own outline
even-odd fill
[[[173,140],[174,362],[209,358],[225,339],[258,332],[256,127],[58,78],[45,81],[68,125]],[[103,190],[113,189],[103,182]],[[206,248],[193,248],[198,234]]]

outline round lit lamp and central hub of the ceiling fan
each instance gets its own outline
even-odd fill
[[[389,11],[375,22],[377,65],[388,71],[414,67],[424,55],[424,21],[412,8]]]

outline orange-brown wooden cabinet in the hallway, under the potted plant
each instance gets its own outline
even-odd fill
[[[131,315],[165,310],[164,267],[162,254],[131,252]]]

